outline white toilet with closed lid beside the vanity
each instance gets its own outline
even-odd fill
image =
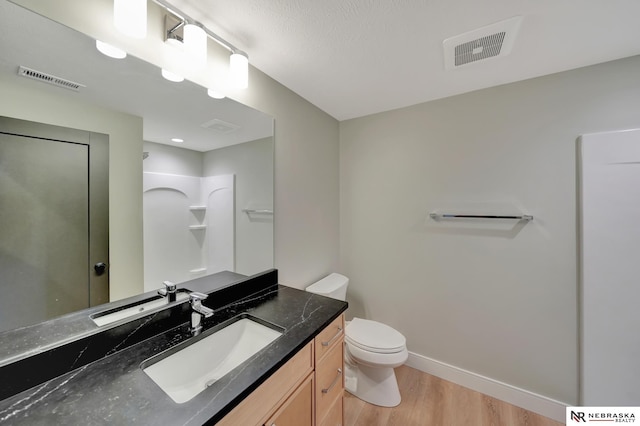
[[[349,278],[330,274],[307,291],[345,300]],[[400,404],[398,381],[393,371],[405,363],[409,353],[405,337],[388,325],[354,318],[345,328],[345,389],[374,405]]]

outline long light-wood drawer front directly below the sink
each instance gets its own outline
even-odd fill
[[[312,371],[313,342],[309,342],[258,389],[220,420],[218,425],[238,426],[264,423]]]

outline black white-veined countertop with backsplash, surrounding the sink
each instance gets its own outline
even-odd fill
[[[73,350],[50,355],[55,360],[65,358],[67,371],[41,383],[35,380],[29,389],[0,401],[0,424],[214,424],[347,308],[345,302],[275,284],[276,271],[213,292],[207,291],[206,280],[196,281],[185,287],[210,293],[205,304],[215,310],[203,322],[201,335],[192,337],[188,331],[190,311],[185,302],[186,307],[181,303],[149,314],[111,329],[100,339],[94,335],[68,343],[65,347]],[[204,338],[241,314],[275,324],[284,334],[190,401],[175,403],[140,368],[150,357]],[[110,348],[101,344],[104,340]],[[29,360],[0,368],[0,381],[20,380],[21,371],[30,371]],[[45,361],[33,362],[31,368],[42,368]],[[9,372],[2,377],[2,370]]]

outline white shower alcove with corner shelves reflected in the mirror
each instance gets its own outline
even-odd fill
[[[208,152],[145,142],[144,289],[273,266],[273,138]]]

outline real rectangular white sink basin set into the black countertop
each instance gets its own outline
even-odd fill
[[[153,365],[143,367],[142,371],[180,404],[214,384],[281,335],[252,319],[238,319]]]

